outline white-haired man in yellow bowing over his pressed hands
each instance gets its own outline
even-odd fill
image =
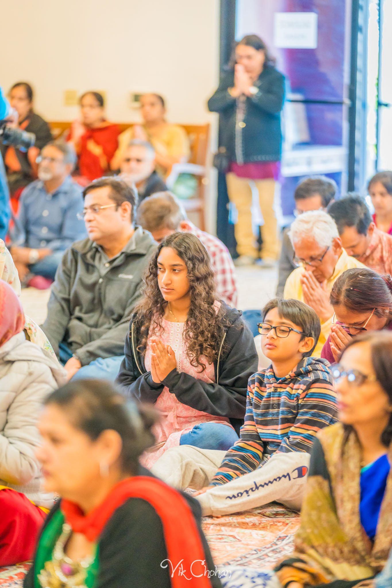
[[[316,311],[321,322],[313,355],[320,356],[330,333],[333,308],[329,301],[334,282],[363,263],[347,255],[334,220],[323,211],[310,211],[294,220],[289,233],[294,248],[294,269],[284,286],[284,298],[301,300]]]

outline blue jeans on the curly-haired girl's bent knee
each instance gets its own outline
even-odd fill
[[[196,425],[180,437],[180,445],[193,445],[200,449],[227,451],[238,441],[238,435],[227,425],[221,423],[202,423]]]

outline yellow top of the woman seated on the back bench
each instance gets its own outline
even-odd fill
[[[151,135],[145,125],[142,125],[146,131],[148,140],[152,144],[156,153],[163,156],[175,157],[181,161],[187,161],[190,155],[189,137],[185,129],[179,125],[167,124],[163,126],[158,133]],[[120,162],[123,152],[128,147],[129,142],[133,139],[133,127],[126,129],[119,135],[119,146],[113,158],[113,161]],[[156,166],[156,171],[160,176],[165,177],[167,170]],[[170,170],[169,170],[170,172]]]

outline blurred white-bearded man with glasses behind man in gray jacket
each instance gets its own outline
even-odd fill
[[[165,192],[167,186],[155,171],[155,150],[151,143],[134,139],[123,152],[120,177],[134,183],[138,189],[138,202],[156,192]]]

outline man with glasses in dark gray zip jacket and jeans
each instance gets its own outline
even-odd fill
[[[69,379],[114,380],[156,242],[134,225],[136,192],[122,179],[97,179],[83,196],[88,239],[64,253],[42,329]]]

